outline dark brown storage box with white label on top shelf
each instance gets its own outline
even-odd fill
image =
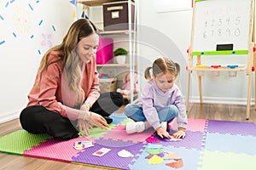
[[[134,3],[131,3],[131,28],[134,23]],[[129,29],[128,2],[103,3],[103,25],[105,31]]]

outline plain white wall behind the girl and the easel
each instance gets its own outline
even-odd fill
[[[169,56],[182,67],[180,85],[183,94],[187,94],[187,53],[190,44],[192,26],[192,10],[160,12],[161,1],[140,0],[139,2],[139,31],[140,68],[152,65],[154,59]],[[243,65],[245,58],[241,57],[207,57],[207,65],[238,64]],[[143,77],[142,77],[142,80]],[[254,82],[254,80],[253,80]],[[143,82],[144,83],[144,82]],[[196,72],[191,77],[190,99],[199,101],[199,90]],[[252,91],[253,98],[254,90]],[[221,72],[219,77],[212,77],[212,72],[206,72],[202,77],[202,94],[204,101],[212,103],[246,104],[247,76],[245,71],[238,72],[237,77],[228,77],[227,72]]]

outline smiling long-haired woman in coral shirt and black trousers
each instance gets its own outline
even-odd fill
[[[106,119],[123,105],[123,96],[100,94],[98,42],[96,26],[80,19],[69,28],[61,44],[44,54],[27,107],[20,113],[26,131],[73,139],[79,133],[88,135],[89,127],[109,127]]]

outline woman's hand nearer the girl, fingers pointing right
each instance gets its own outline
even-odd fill
[[[99,114],[96,114],[94,112],[90,112],[90,117],[87,122],[89,122],[90,125],[92,125],[92,126],[96,126],[96,127],[100,127],[100,128],[104,128],[104,129],[107,129],[109,127],[106,119],[104,119],[104,117],[102,117]]]

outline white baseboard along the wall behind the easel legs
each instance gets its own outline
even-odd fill
[[[190,103],[200,103],[199,96],[189,97]],[[202,103],[207,104],[224,104],[224,105],[247,105],[245,98],[218,98],[218,97],[203,97]],[[250,105],[254,105],[254,99],[251,99]]]

